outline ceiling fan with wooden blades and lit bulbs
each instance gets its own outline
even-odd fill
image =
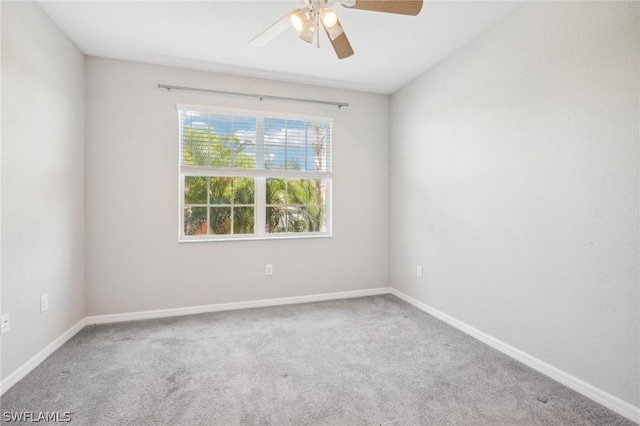
[[[423,0],[301,0],[305,7],[294,9],[287,13],[275,24],[260,33],[249,42],[252,46],[263,47],[271,40],[285,32],[291,26],[300,34],[300,38],[307,43],[320,47],[319,27],[329,37],[329,41],[339,59],[353,55],[353,48],[340,24],[338,14],[331,8],[334,3],[340,3],[350,9],[370,10],[372,12],[397,13],[400,15],[416,16],[422,9]]]

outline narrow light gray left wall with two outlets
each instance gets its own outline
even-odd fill
[[[4,378],[84,317],[85,223],[83,55],[35,3],[2,9]]]

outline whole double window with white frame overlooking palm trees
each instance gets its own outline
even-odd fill
[[[331,119],[178,110],[181,241],[331,235]]]

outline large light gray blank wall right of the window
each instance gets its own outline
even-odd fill
[[[638,9],[526,5],[391,119],[392,285],[635,406]]]

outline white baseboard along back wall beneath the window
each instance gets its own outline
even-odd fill
[[[219,303],[215,305],[190,306],[185,308],[159,309],[154,311],[128,312],[124,314],[95,315],[86,318],[87,325],[135,321],[151,318],[166,318],[207,312],[230,311],[235,309],[263,308],[267,306],[292,305],[296,303],[321,302],[324,300],[350,299],[353,297],[377,296],[391,293],[390,287],[366,290],[341,291],[338,293],[312,294],[309,296],[281,297],[277,299],[251,300],[248,302]]]

